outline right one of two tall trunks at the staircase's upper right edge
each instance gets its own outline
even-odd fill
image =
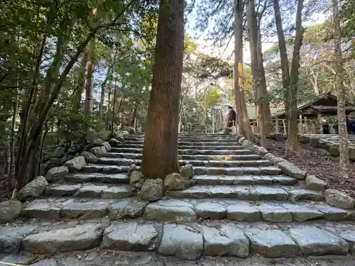
[[[258,26],[256,21],[256,11],[254,0],[248,0],[248,7],[246,9],[246,22],[248,24],[248,36],[251,54],[251,65],[253,73],[253,84],[255,89],[255,99],[258,106],[258,113],[256,113],[258,118],[258,128],[260,133],[261,145],[266,147],[266,128],[265,128],[265,116],[264,107],[265,101],[263,99],[263,89],[261,88],[261,70],[258,61]]]

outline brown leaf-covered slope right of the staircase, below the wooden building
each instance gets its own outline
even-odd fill
[[[339,157],[332,157],[327,150],[300,143],[300,150],[290,153],[286,152],[285,145],[285,140],[269,140],[267,149],[324,180],[329,184],[328,188],[339,189],[355,198],[355,162],[350,162],[349,179],[346,179],[339,175]]]

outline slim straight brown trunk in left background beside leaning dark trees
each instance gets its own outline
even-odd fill
[[[87,80],[85,84],[85,102],[83,113],[89,116],[92,112],[92,92],[94,90],[94,52],[95,40],[90,41],[90,47],[87,55]]]

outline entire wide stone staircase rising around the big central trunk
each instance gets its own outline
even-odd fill
[[[23,207],[23,218],[0,227],[0,253],[99,248],[183,260],[355,254],[354,211],[329,206],[322,192],[233,138],[180,134],[180,165],[193,165],[195,185],[151,203],[131,192],[126,175],[141,165],[142,150],[143,135],[129,135],[81,172],[51,183]]]

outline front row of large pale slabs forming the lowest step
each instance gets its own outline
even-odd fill
[[[258,255],[260,257],[257,261],[261,262],[262,257],[346,255],[353,251],[354,242],[352,240],[355,236],[354,226],[347,223],[340,223],[340,225],[338,223],[319,223],[317,225],[311,223],[305,225],[266,223],[264,226],[246,223],[241,226],[239,223],[229,222],[217,226],[208,222],[163,224],[130,220],[94,223],[75,220],[67,225],[62,221],[58,223],[59,228],[46,230],[48,223],[39,221],[32,232],[23,235],[21,232],[26,226],[30,225],[11,226],[13,233],[7,238],[2,238],[1,245],[6,245],[7,240],[18,246],[21,245],[28,253],[43,255],[100,248],[105,252],[94,257],[108,257],[109,254],[106,250],[115,250],[116,252],[132,252],[130,256],[139,252],[156,252],[158,255],[174,256],[182,260],[200,260],[203,256],[250,257]],[[340,228],[334,230],[332,226],[334,228],[340,226]],[[92,264],[90,256],[86,254],[84,255],[84,257],[87,256],[86,262],[83,260],[81,263],[79,259],[82,258],[82,255],[75,253],[75,260],[70,260],[70,254],[60,255],[58,261],[64,263],[60,263],[60,265],[113,265],[111,262],[115,261]],[[122,256],[124,255],[115,257],[116,261],[122,261]],[[208,261],[213,260],[212,257],[208,257],[208,259],[206,263],[199,265],[215,265],[214,263],[208,264]],[[169,260],[166,257],[161,261],[164,262],[164,265],[170,265]],[[230,258],[223,259],[224,262],[227,260]],[[331,260],[332,258],[327,258],[328,262]],[[129,260],[125,259],[124,261],[128,262]],[[144,263],[144,261],[152,262],[151,256],[143,253],[140,260],[129,265],[142,265],[141,262]],[[253,260],[253,262],[255,261]],[[315,258],[312,258],[312,261],[315,261]],[[255,265],[253,262],[248,265]],[[280,265],[285,265],[283,262]],[[305,264],[295,262],[296,264],[287,265],[311,265],[307,263],[307,260],[305,262]],[[228,265],[240,265],[241,263],[244,264],[244,261],[232,262]],[[181,265],[186,264],[190,263],[182,262]],[[271,264],[258,263],[258,265]],[[40,265],[58,264],[50,263],[50,259],[48,259],[47,262],[40,263]],[[154,265],[163,264],[158,262]],[[317,265],[320,264],[317,263]],[[335,265],[342,265],[342,263]],[[350,262],[346,265],[353,264]]]

